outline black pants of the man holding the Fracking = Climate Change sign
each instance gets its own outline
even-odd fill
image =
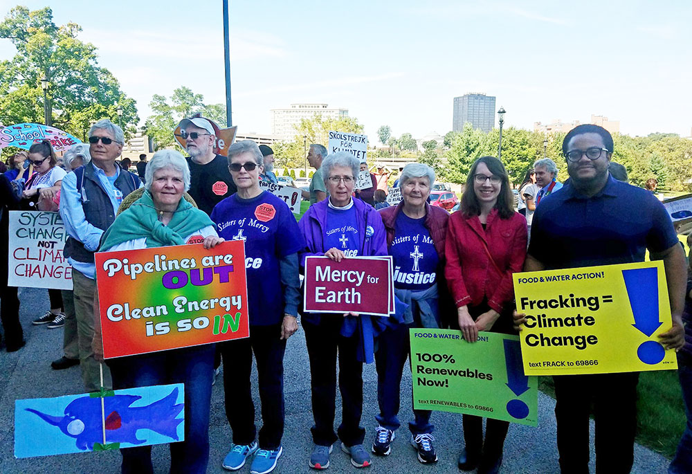
[[[593,403],[597,474],[629,473],[634,462],[639,372],[560,375],[553,380],[561,472],[589,472]]]

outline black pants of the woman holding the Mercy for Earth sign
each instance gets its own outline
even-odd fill
[[[318,325],[303,323],[305,342],[310,358],[312,388],[313,442],[330,446],[337,439],[334,433],[336,412],[336,356],[339,358],[339,390],[341,392],[341,424],[338,439],[346,446],[363,444],[363,363],[358,361],[357,336],[345,338],[340,330],[343,317],[339,314],[321,317]]]

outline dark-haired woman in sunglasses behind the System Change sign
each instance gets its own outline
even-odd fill
[[[62,179],[67,174],[60,166],[57,166],[55,151],[49,140],[42,140],[34,143],[29,148],[29,162],[33,167],[33,174],[30,176],[24,192],[22,207],[31,210],[57,211],[55,197],[60,191]],[[51,299],[51,309],[46,311],[43,316],[33,321],[35,325],[48,325],[48,328],[55,329],[65,325],[65,314],[62,309],[62,295],[60,290],[49,289],[48,297]]]

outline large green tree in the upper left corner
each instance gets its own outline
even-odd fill
[[[0,38],[9,39],[17,54],[0,62],[0,122],[44,123],[41,79],[48,87],[48,116],[52,125],[86,138],[92,122],[110,118],[118,123],[122,107],[125,134],[139,121],[136,102],[120,90],[108,69],[98,66],[96,47],[78,39],[75,23],[57,26],[53,10],[12,8],[0,24]]]

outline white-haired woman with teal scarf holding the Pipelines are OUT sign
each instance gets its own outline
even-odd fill
[[[205,248],[212,248],[224,241],[209,217],[183,199],[190,188],[190,169],[180,153],[170,149],[156,152],[147,163],[145,176],[144,193],[104,233],[101,251],[183,245],[201,239]],[[98,357],[102,353],[100,331],[96,331],[93,346]],[[185,441],[170,444],[172,471],[207,471],[214,354],[212,344],[108,361],[114,389],[185,384]],[[123,473],[152,472],[151,446],[120,453]]]

